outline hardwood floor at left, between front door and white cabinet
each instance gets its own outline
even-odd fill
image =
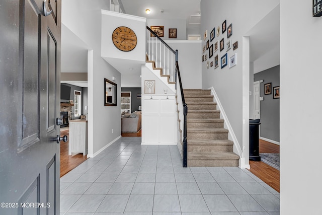
[[[69,139],[69,129],[60,131],[60,136],[67,135]],[[68,155],[68,141],[60,142],[60,177],[68,173],[70,170],[77,167],[86,161],[87,156],[77,154],[74,156]]]

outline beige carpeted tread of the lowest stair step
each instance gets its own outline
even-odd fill
[[[188,160],[238,160],[239,156],[233,152],[199,153],[188,154]]]

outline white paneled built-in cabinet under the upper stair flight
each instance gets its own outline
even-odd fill
[[[175,95],[142,94],[142,145],[177,145]]]

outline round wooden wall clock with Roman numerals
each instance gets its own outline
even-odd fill
[[[118,27],[113,31],[112,40],[115,47],[121,51],[131,51],[137,43],[134,31],[124,26]]]

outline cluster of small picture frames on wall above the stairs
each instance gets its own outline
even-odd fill
[[[227,20],[224,20],[221,26],[214,26],[209,31],[210,35],[208,35],[208,30],[204,31],[202,46],[202,62],[206,63],[207,69],[211,67],[216,69],[219,65],[220,68],[224,68],[226,65],[229,65],[229,68],[235,66],[237,53],[229,53],[231,49],[234,51],[238,48],[238,41],[232,39],[232,23],[227,26]]]

